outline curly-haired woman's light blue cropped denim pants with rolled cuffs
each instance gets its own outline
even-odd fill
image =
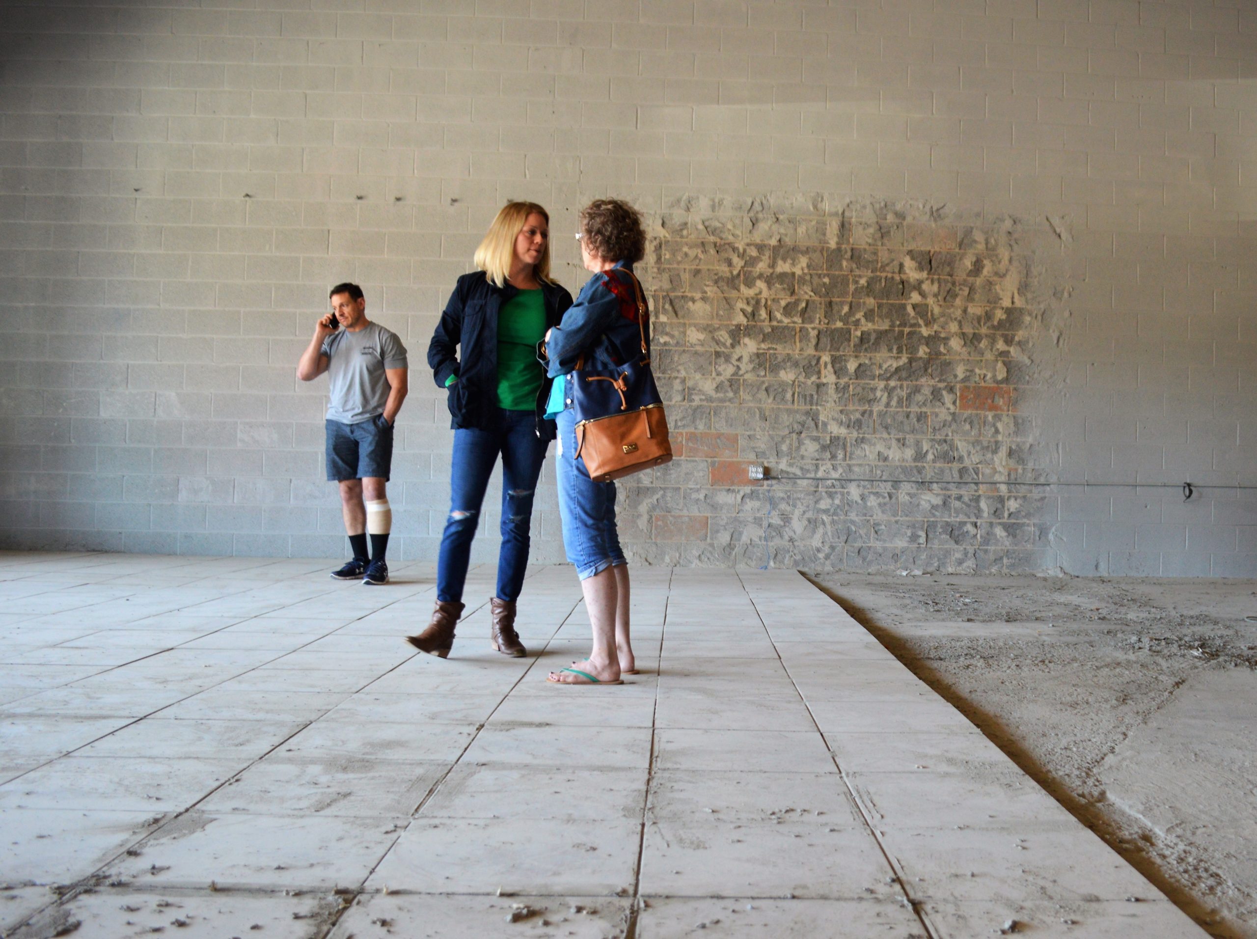
[[[558,422],[558,514],[563,522],[563,547],[582,581],[608,567],[628,563],[616,530],[616,484],[595,483],[576,459],[576,412],[561,411]]]

